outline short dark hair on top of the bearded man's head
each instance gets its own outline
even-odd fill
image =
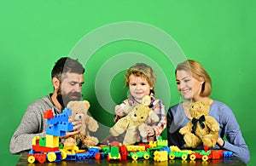
[[[79,63],[78,60],[73,60],[69,57],[62,57],[55,63],[55,66],[51,71],[51,78],[57,77],[61,79],[61,75],[66,74],[67,72],[83,74],[84,67]]]

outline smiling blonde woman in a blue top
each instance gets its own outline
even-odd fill
[[[229,106],[209,97],[212,92],[211,77],[201,64],[195,60],[186,60],[176,68],[177,89],[184,101],[169,108],[167,113],[167,136],[169,146],[186,148],[183,135],[179,134],[186,123],[191,120],[189,104],[207,100],[211,103],[209,115],[219,123],[217,144],[214,148],[234,152],[242,162],[248,163],[250,154],[247,144],[241,135],[239,124]],[[226,140],[224,140],[224,136]],[[202,148],[197,147],[197,148]]]

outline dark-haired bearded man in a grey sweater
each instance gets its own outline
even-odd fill
[[[10,140],[9,151],[12,154],[29,151],[32,148],[32,139],[35,136],[45,137],[48,126],[44,119],[44,112],[52,109],[60,114],[70,100],[82,99],[82,85],[84,83],[84,67],[78,60],[63,57],[55,63],[51,71],[54,92],[35,100],[27,106],[20,125]],[[81,123],[72,121],[73,131],[66,136],[76,135]]]

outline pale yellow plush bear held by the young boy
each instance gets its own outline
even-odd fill
[[[148,106],[151,103],[151,98],[149,95],[143,97],[142,103],[136,106],[125,105],[123,110],[126,114],[125,117],[119,119],[117,123],[109,129],[109,132],[113,136],[119,136],[125,133],[125,138],[123,144],[133,145],[136,143],[138,135],[143,138],[147,137],[148,133],[144,130],[148,126],[146,120],[148,117],[152,122],[158,122],[158,115],[152,111]]]

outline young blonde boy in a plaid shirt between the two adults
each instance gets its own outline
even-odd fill
[[[137,63],[131,66],[125,73],[125,85],[129,87],[130,97],[124,100],[120,105],[115,106],[114,122],[125,117],[125,112],[122,110],[122,105],[136,106],[142,102],[144,95],[150,95],[150,108],[159,116],[159,122],[152,123],[150,119],[146,121],[148,127],[145,130],[148,133],[147,138],[139,137],[137,142],[148,143],[150,140],[157,140],[163,130],[166,128],[166,110],[162,101],[154,98],[154,84],[156,82],[156,74],[154,70],[144,64]]]

